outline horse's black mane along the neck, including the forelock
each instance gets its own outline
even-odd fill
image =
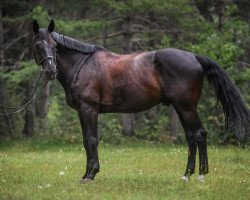
[[[48,32],[44,29],[40,29],[40,34],[45,36]],[[56,32],[51,33],[52,38],[57,44],[62,45],[68,49],[74,49],[83,53],[95,53],[99,50],[106,50],[104,47],[99,45],[91,45],[84,42],[80,42],[76,39],[70,38],[68,36],[60,35]]]

